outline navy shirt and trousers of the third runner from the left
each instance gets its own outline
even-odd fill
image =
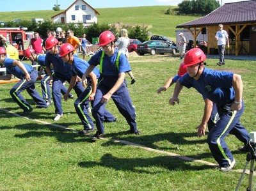
[[[54,69],[53,82],[52,82],[52,98],[55,106],[55,114],[63,114],[61,108],[61,88],[63,87],[63,82],[66,80],[70,82],[71,80],[71,67],[68,63],[64,63],[61,57],[59,57],[60,52],[54,56],[50,52],[46,53],[45,56],[45,66],[51,67],[51,63]],[[77,97],[83,93],[84,88],[81,82],[76,82],[74,86]]]

